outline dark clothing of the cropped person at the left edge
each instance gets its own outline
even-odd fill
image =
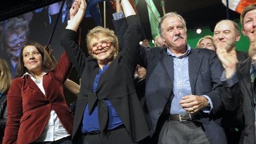
[[[7,122],[7,94],[6,92],[0,98],[0,143],[4,137],[5,124]]]

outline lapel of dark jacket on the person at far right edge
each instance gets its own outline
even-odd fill
[[[249,58],[247,60],[242,61],[239,63],[238,72],[241,76],[241,82],[244,85],[244,88],[247,90],[249,97],[252,100],[252,85],[251,85],[251,76],[249,75],[249,71],[251,68],[251,60]],[[245,94],[247,95],[247,94]]]

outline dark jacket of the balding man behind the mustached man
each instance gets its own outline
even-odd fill
[[[236,57],[239,62],[247,59],[248,53],[236,51]],[[237,66],[238,68],[238,66]],[[237,82],[238,79],[235,79]],[[241,97],[236,95],[237,89],[239,89],[238,84],[234,84],[233,79],[223,79],[223,91],[222,91],[222,101],[225,109],[222,110],[222,127],[225,129],[226,138],[228,143],[239,143],[242,139],[241,133],[244,126],[241,122],[236,119],[238,110],[241,107]],[[236,129],[236,130],[234,130]]]

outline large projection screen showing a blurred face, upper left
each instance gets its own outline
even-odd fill
[[[63,49],[60,48],[59,37],[69,20],[69,5],[72,0],[65,1],[60,13],[57,27],[50,45],[53,47],[56,59]],[[15,78],[18,57],[21,49],[28,40],[34,40],[47,46],[53,27],[56,23],[62,2],[36,9],[18,17],[9,18],[0,22],[0,57],[5,59],[11,68],[12,78]]]

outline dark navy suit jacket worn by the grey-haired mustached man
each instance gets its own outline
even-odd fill
[[[140,49],[140,65],[147,69],[146,77],[146,105],[152,121],[153,133],[159,117],[166,105],[170,105],[173,81],[173,57],[167,54],[167,48],[153,47]],[[208,95],[213,103],[210,114],[202,114],[200,118],[206,130],[206,136],[211,143],[226,143],[225,133],[220,127],[218,111],[222,108],[220,77],[222,65],[212,50],[191,49],[188,55],[188,72],[191,91],[194,95]]]

